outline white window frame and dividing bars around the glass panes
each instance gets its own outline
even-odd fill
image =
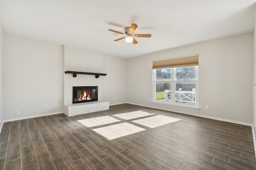
[[[196,80],[176,80],[176,68],[180,67],[189,67],[189,66],[177,66],[172,67],[171,69],[171,80],[156,80],[156,69],[152,69],[152,102],[158,103],[158,104],[166,104],[166,105],[172,105],[172,106],[180,106],[180,107],[191,107],[199,109],[199,66],[196,65]],[[189,104],[189,103],[178,103],[175,101],[175,93],[171,93],[171,100],[156,100],[156,82],[170,82],[170,90],[171,92],[175,92],[175,83],[176,82],[195,82],[196,83],[196,103],[195,104]]]

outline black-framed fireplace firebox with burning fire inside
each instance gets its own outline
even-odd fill
[[[73,104],[98,101],[98,86],[73,86]]]

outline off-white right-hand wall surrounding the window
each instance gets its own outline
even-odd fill
[[[199,54],[200,110],[149,102],[152,61]],[[253,33],[188,45],[127,60],[127,102],[252,123]],[[209,105],[209,109],[205,109]]]

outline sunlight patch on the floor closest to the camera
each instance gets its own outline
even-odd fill
[[[119,123],[116,125],[110,125],[106,127],[100,127],[96,129],[92,129],[96,133],[102,135],[108,140],[116,139],[118,137],[123,137],[126,135],[131,135],[132,133],[137,133],[140,131],[144,131],[141,127],[132,125],[130,123]]]

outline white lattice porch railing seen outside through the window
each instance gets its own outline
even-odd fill
[[[171,100],[171,90],[164,90],[164,99],[165,101]],[[176,90],[175,101],[196,104],[196,92]]]

